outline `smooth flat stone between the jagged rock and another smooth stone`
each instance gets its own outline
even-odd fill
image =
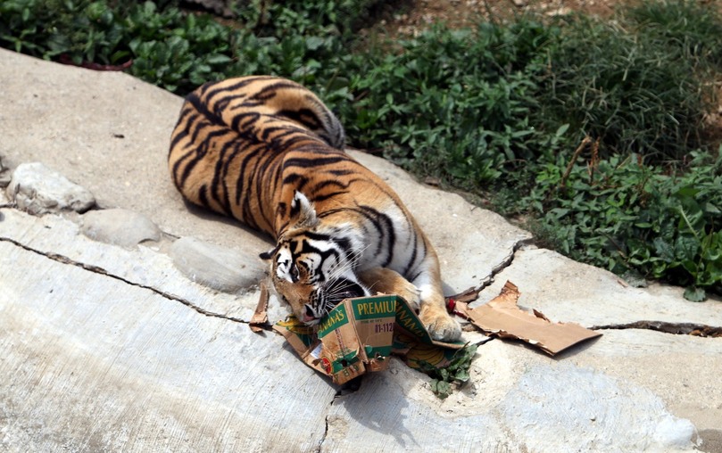
[[[153,221],[133,210],[91,210],[83,215],[81,231],[90,239],[121,247],[161,239],[161,230]]]

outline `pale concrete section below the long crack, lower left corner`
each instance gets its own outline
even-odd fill
[[[336,390],[278,336],[8,242],[0,268],[0,449],[311,450],[322,438],[309,401]]]

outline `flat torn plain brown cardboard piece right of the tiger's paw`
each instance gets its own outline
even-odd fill
[[[537,310],[533,315],[527,313],[517,305],[519,295],[519,288],[507,282],[492,301],[476,309],[463,308],[464,314],[486,334],[518,339],[552,356],[579,342],[602,336],[578,324],[554,324]]]

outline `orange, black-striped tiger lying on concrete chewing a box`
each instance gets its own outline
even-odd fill
[[[461,326],[445,308],[436,251],[399,196],[344,151],[336,116],[286,78],[247,76],[187,95],[170,176],[191,203],[275,241],[269,287],[305,325],[347,298],[395,294],[431,337]]]

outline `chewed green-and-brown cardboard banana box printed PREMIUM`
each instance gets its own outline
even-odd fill
[[[291,316],[273,326],[309,367],[341,384],[388,367],[394,352],[411,367],[443,367],[464,343],[434,342],[416,313],[395,295],[347,299],[314,327]]]

